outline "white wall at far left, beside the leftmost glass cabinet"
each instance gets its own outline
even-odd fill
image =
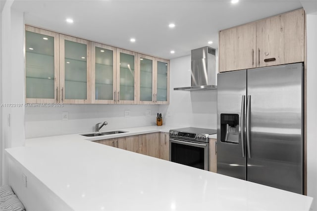
[[[24,107],[7,105],[24,103],[24,16],[23,12],[11,10],[12,2],[6,1],[1,11],[2,175],[7,175],[3,149],[23,146],[25,141]],[[5,176],[1,178],[3,183],[7,183]]]

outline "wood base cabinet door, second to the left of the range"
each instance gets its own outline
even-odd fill
[[[159,133],[139,135],[139,153],[155,158],[161,158]]]

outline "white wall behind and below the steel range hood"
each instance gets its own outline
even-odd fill
[[[216,58],[216,63],[217,63]],[[216,77],[216,76],[214,76]],[[170,60],[169,105],[160,106],[163,122],[180,127],[217,127],[217,91],[174,91],[191,86],[191,56]]]

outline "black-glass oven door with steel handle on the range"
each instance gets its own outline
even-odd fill
[[[169,160],[209,170],[209,143],[194,143],[169,138]]]

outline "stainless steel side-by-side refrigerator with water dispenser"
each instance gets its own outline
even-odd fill
[[[217,173],[303,194],[303,63],[218,74]]]

